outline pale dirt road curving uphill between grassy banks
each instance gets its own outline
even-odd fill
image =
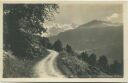
[[[53,50],[48,51],[50,52],[50,54],[34,66],[34,73],[36,74],[36,77],[65,78],[65,76],[57,68],[56,57],[58,56],[58,52]]]

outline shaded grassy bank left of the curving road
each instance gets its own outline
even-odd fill
[[[4,78],[24,78],[33,77],[32,67],[42,58],[44,58],[48,52],[44,52],[43,56],[39,56],[35,59],[19,59],[11,53],[4,52]]]

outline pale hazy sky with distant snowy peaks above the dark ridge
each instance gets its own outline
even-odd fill
[[[48,33],[52,33],[50,29],[53,28],[58,28],[61,32],[61,30],[73,29],[71,24],[82,25],[96,19],[122,23],[123,6],[121,4],[59,4],[58,12],[54,20],[45,23],[45,27],[49,29]]]

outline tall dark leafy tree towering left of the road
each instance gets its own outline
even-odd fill
[[[17,56],[40,53],[36,36],[46,31],[43,23],[57,8],[56,4],[4,4],[4,49]]]

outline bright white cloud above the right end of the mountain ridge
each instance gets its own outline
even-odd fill
[[[105,21],[109,21],[112,23],[121,23],[121,19],[121,15],[118,13],[113,13],[112,15],[104,18]]]

